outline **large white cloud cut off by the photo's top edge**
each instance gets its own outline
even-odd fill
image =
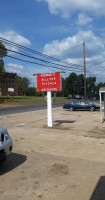
[[[86,15],[102,16],[105,15],[104,0],[36,0],[48,3],[51,14],[69,18],[73,14],[86,13]],[[80,17],[80,16],[79,16]],[[90,19],[88,19],[90,22]]]

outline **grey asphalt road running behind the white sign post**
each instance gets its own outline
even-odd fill
[[[63,106],[63,103],[52,104],[53,108],[61,107],[61,106]],[[43,110],[43,109],[47,109],[47,104],[5,107],[5,108],[0,108],[0,115],[10,115],[10,114],[15,114],[15,113],[22,113],[22,112],[29,112],[29,111]]]

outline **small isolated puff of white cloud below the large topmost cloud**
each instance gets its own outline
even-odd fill
[[[87,15],[83,14],[83,13],[80,13],[78,15],[78,21],[77,21],[77,24],[78,25],[86,25],[88,24],[89,22],[92,22],[93,19],[88,17]]]

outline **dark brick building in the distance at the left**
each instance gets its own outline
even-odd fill
[[[17,74],[16,73],[5,73],[5,83],[0,88],[0,96],[17,96],[18,86],[17,86]]]

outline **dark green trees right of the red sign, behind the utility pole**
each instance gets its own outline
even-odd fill
[[[86,90],[87,98],[96,98],[99,99],[99,89],[100,87],[105,86],[105,83],[99,83],[96,85],[95,77],[87,77],[86,79]],[[79,95],[80,98],[84,97],[84,75],[77,75],[71,73],[67,78],[62,79],[62,95],[67,97],[71,95],[72,98],[75,98]]]

